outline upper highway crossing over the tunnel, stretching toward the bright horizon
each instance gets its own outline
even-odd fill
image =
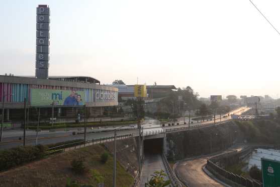
[[[239,114],[241,109],[244,109],[244,111],[247,111],[249,108],[241,107],[238,108],[234,111],[231,111],[230,114],[237,113]],[[224,114],[225,115],[225,114]],[[223,120],[228,120],[228,117],[222,118]],[[216,121],[219,122],[220,118],[216,117]],[[204,121],[204,122],[194,122],[191,123],[190,126],[197,126],[198,124],[207,124],[207,123],[212,123],[212,121]],[[147,118],[144,121],[144,124],[142,124],[142,128],[144,129],[143,132],[144,134],[149,131],[161,131],[165,129],[175,129],[178,127],[189,127],[189,124],[182,124],[182,121],[179,121],[181,124],[180,126],[170,126],[170,127],[161,127],[159,124],[159,121],[156,119],[150,119]],[[167,124],[166,124],[167,125]],[[86,132],[95,132],[95,133],[87,133],[86,134],[86,139],[99,139],[103,137],[112,137],[114,136],[114,129],[118,128],[117,135],[126,135],[126,134],[131,134],[131,133],[138,133],[137,125],[130,125],[130,126],[125,126],[125,127],[110,127],[110,128],[101,128],[101,129],[91,129],[87,128]],[[72,132],[80,132],[83,133],[83,128],[78,131],[78,128],[76,129],[71,129],[69,131],[63,131],[63,130],[56,130],[55,132],[49,132],[47,131],[41,131],[38,133],[38,143],[47,145],[47,144],[53,144],[57,142],[64,142],[64,141],[69,141],[69,140],[76,140],[76,139],[83,139],[84,135],[72,135]],[[19,137],[22,138],[22,140],[19,140]],[[26,145],[35,145],[36,143],[36,132],[29,130],[26,131]],[[16,147],[19,145],[23,145],[23,130],[7,130],[4,131],[4,138],[3,142],[0,142],[0,149],[8,149],[12,147]]]

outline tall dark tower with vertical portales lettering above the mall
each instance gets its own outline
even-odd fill
[[[36,77],[48,79],[49,76],[49,38],[50,8],[38,5],[36,24]]]

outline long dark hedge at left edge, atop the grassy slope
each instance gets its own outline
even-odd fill
[[[31,162],[45,155],[46,146],[19,146],[0,151],[0,171]]]

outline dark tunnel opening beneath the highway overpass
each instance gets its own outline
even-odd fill
[[[163,138],[144,140],[144,154],[161,154]]]

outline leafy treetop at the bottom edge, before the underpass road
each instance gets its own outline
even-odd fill
[[[163,170],[155,171],[151,174],[150,180],[147,179],[145,183],[145,187],[163,187],[167,186],[171,183],[170,180],[164,180],[165,176],[167,176]]]

